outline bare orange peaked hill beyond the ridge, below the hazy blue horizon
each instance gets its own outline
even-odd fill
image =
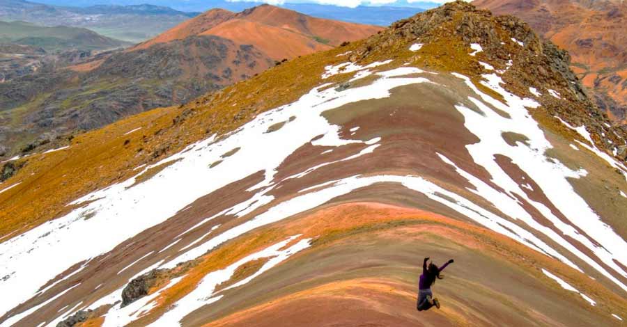
[[[380,30],[378,26],[320,19],[263,5],[241,13],[209,10],[133,49],[146,49],[192,35],[216,35],[238,44],[253,45],[280,60],[331,49],[345,41],[367,38]]]

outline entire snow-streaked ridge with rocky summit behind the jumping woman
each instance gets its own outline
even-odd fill
[[[29,158],[0,326],[621,324],[624,134],[508,19],[449,3]]]

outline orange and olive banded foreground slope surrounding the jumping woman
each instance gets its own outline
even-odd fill
[[[313,237],[309,253],[296,255],[266,278],[251,282],[246,292],[232,292],[232,302],[196,312],[184,322],[213,320],[205,327],[577,326],[594,324],[595,319],[611,326],[613,322],[612,317],[590,310],[585,300],[568,298],[538,269],[571,274],[573,282],[585,289],[582,292],[595,292],[594,280],[516,241],[446,216],[376,202],[349,202],[330,204],[281,229]],[[424,253],[436,264],[449,257],[456,260],[442,273],[446,278],[435,283],[441,310],[415,310]],[[279,282],[278,276],[293,284]],[[270,282],[273,277],[276,282]],[[247,303],[246,296],[256,296],[257,301]],[[621,301],[615,294],[603,296]],[[538,301],[542,308],[534,308]]]

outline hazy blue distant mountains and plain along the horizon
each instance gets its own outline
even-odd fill
[[[35,3],[24,0],[0,0],[0,20],[23,20],[47,26],[66,25],[85,27],[111,38],[141,42],[170,29],[199,12],[222,8],[239,12],[258,6],[255,2],[210,1],[65,1],[43,0]],[[107,2],[109,2],[107,4]],[[45,4],[44,4],[45,3]],[[98,4],[95,4],[98,3]],[[105,4],[102,4],[105,3]],[[157,6],[158,5],[158,6]],[[398,19],[432,8],[435,3],[411,3],[412,6],[359,6],[346,8],[315,3],[286,3],[282,8],[314,17],[388,26]],[[175,8],[175,9],[173,9]],[[183,10],[183,11],[180,11]]]

